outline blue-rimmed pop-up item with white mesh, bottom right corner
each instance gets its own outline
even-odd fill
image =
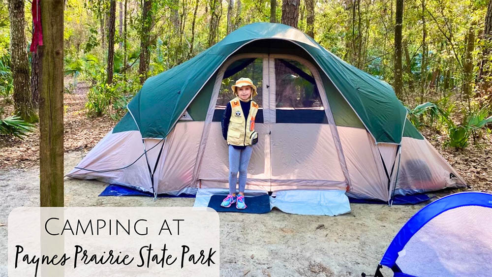
[[[491,276],[492,194],[455,193],[425,206],[400,229],[373,276],[383,277],[382,266],[395,277]]]

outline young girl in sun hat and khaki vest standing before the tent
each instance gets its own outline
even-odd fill
[[[249,78],[240,78],[232,86],[236,98],[232,99],[222,116],[222,135],[229,145],[229,195],[220,206],[228,208],[236,203],[237,209],[246,209],[245,186],[247,166],[252,145],[258,140],[254,131],[254,119],[258,104],[252,98],[258,93]],[[236,197],[236,183],[239,172],[239,196]]]

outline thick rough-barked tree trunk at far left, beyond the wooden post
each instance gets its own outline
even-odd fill
[[[14,85],[15,113],[27,122],[37,121],[32,104],[28,52],[24,34],[24,1],[8,0],[10,21],[10,70]]]

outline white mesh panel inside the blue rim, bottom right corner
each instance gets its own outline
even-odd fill
[[[437,215],[411,237],[396,263],[414,276],[488,276],[492,221],[487,218],[492,218],[492,209],[482,206]]]

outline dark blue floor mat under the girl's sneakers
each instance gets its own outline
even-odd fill
[[[258,196],[245,196],[245,203],[247,208],[244,210],[236,209],[236,204],[233,204],[229,208],[220,206],[222,200],[226,195],[212,195],[209,201],[209,207],[217,212],[231,212],[231,213],[249,213],[249,214],[266,214],[271,211],[270,209],[270,196],[268,194],[262,194]]]

